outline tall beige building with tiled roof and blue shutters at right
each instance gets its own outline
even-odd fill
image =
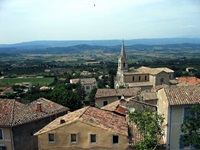
[[[192,92],[191,92],[192,91]],[[192,150],[180,142],[181,124],[192,105],[200,103],[200,87],[168,87],[158,91],[158,113],[164,115],[164,142],[168,150]]]

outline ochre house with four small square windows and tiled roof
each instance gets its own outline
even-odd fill
[[[61,116],[35,135],[40,150],[126,150],[129,145],[125,117],[95,107]]]

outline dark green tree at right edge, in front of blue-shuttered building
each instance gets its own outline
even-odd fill
[[[184,117],[184,122],[181,125],[183,133],[180,142],[183,145],[192,145],[196,149],[200,149],[200,104],[192,106],[188,115]]]

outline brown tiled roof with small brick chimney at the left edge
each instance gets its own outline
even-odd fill
[[[41,104],[41,111],[37,111],[38,103]],[[0,99],[0,126],[16,126],[67,110],[68,108],[44,98],[29,104]]]

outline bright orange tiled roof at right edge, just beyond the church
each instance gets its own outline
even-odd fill
[[[200,79],[196,77],[180,77],[177,86],[200,85]]]

